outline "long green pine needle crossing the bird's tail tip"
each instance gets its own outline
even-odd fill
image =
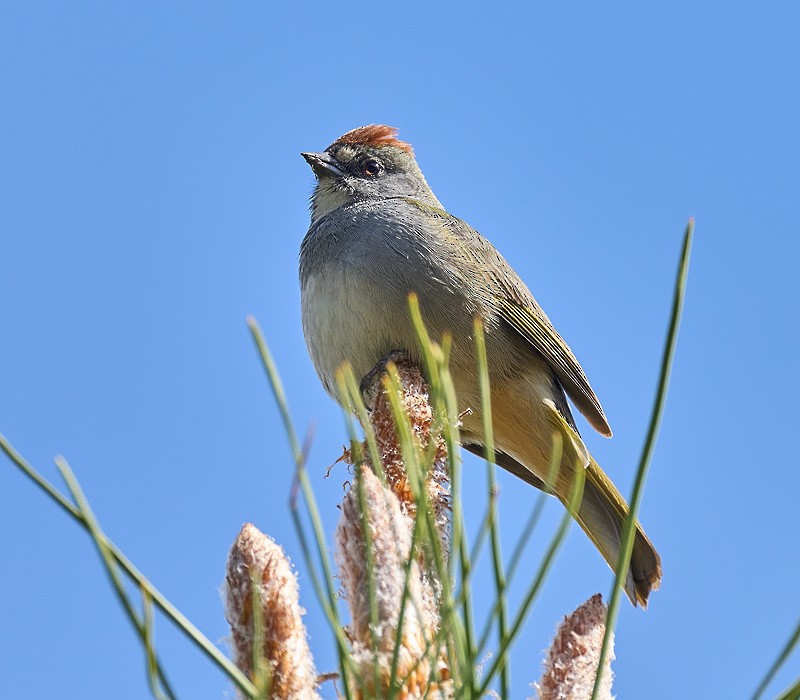
[[[603,646],[600,651],[600,660],[597,666],[597,676],[595,677],[594,688],[592,689],[591,700],[597,699],[602,683],[603,668],[608,657],[611,638],[619,614],[619,603],[622,599],[622,585],[625,581],[630,564],[631,553],[633,551],[633,541],[636,532],[636,520],[639,512],[639,504],[644,492],[644,482],[650,460],[655,449],[658,429],[661,425],[661,418],[664,414],[664,405],[667,399],[667,389],[669,387],[669,377],[672,370],[672,361],[675,356],[675,346],[678,340],[678,328],[680,326],[681,312],[683,310],[683,300],[686,291],[686,278],[689,272],[689,257],[692,249],[692,235],[694,233],[694,219],[689,220],[686,233],[683,238],[683,250],[681,251],[680,262],[678,264],[678,275],[675,280],[675,294],[672,302],[672,314],[670,317],[669,330],[664,344],[664,355],[661,360],[661,371],[658,380],[658,389],[653,403],[653,412],[650,418],[650,426],[647,430],[642,455],[639,460],[639,467],[636,471],[636,479],[633,486],[633,494],[630,501],[630,512],[625,521],[623,530],[620,556],[616,568],[614,587],[611,590],[611,599],[608,604],[606,616],[606,631],[603,636]]]

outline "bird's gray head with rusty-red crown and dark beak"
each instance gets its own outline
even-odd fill
[[[311,196],[312,223],[356,200],[411,197],[441,207],[397,129],[370,124],[348,131],[322,153],[303,153],[317,187]]]

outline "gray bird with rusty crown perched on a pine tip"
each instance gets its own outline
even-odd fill
[[[544,488],[553,431],[560,430],[555,495],[567,503],[576,463],[585,468],[577,520],[615,568],[628,506],[584,446],[566,396],[599,433],[610,436],[611,428],[525,283],[488,240],[444,209],[396,129],[363,126],[302,155],[317,178],[300,250],[303,331],[328,393],[336,398],[334,376],[346,361],[357,377],[392,352],[421,361],[408,314],[408,295],[416,292],[431,336],[452,336],[459,409],[472,409],[462,418],[462,444],[483,454],[473,326],[481,319],[497,464]],[[637,523],[625,592],[646,606],[660,580],[660,557]]]

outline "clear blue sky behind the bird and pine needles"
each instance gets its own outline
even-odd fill
[[[300,327],[313,185],[300,151],[400,128],[445,206],[506,255],[579,357],[615,436],[580,426],[625,493],[694,215],[642,506],[664,582],[647,612],[622,610],[615,689],[747,697],[800,614],[798,37],[788,2],[3,3],[0,431],[54,480],[63,454],[110,536],[223,644],[218,588],[242,523],[301,559],[247,314],[298,425],[316,426],[329,532],[347,478],[323,479],[345,431]],[[484,470],[466,469],[480,512]],[[535,492],[500,484],[511,543]],[[0,512],[0,695],[147,697],[85,533],[5,459]],[[554,504],[549,526],[559,516]],[[515,647],[514,698],[532,694],[561,617],[610,585],[573,528]],[[157,642],[180,697],[232,696],[162,618]],[[795,653],[770,695],[799,668]]]

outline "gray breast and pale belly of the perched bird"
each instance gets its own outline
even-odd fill
[[[364,376],[392,350],[416,351],[408,294],[416,292],[434,338],[471,336],[469,302],[459,291],[423,215],[402,201],[354,203],[312,226],[300,255],[303,330],[329,393],[349,361]]]

